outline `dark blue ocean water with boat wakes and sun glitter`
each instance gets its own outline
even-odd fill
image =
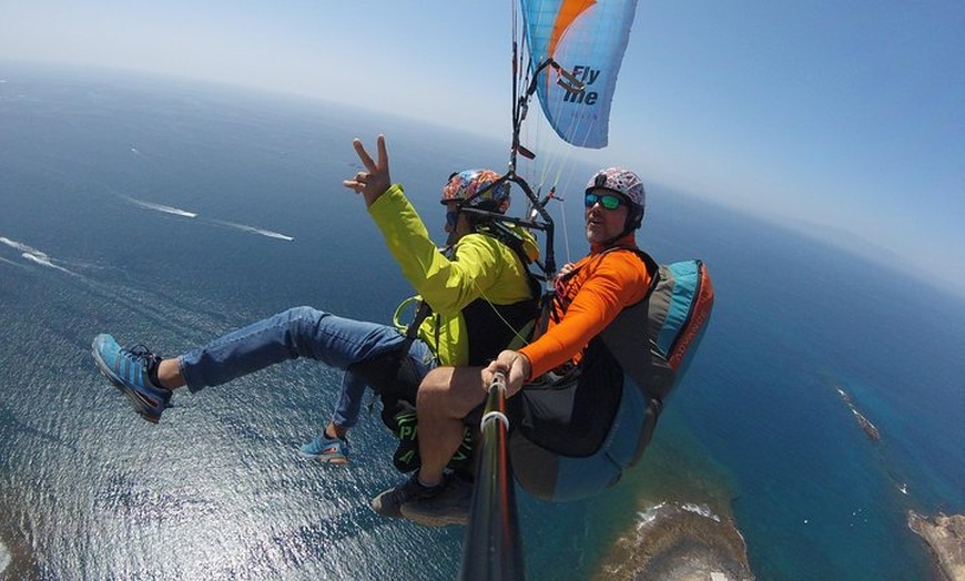
[[[377,414],[347,469],[297,455],[337,374],[293,361],[179,393],[151,426],[89,355],[101,332],[176,354],[303,304],[388,320],[409,289],[341,185],[352,137],[378,132],[438,241],[449,172],[506,163],[502,143],[402,118],[0,64],[0,578],[455,577],[461,529],[368,509],[399,480]],[[519,495],[528,577],[600,574],[671,497],[732,517],[759,579],[935,577],[905,519],[965,511],[965,300],[659,184],[649,202],[642,244],[707,262],[713,320],[618,487]],[[579,256],[579,221],[562,227]]]

